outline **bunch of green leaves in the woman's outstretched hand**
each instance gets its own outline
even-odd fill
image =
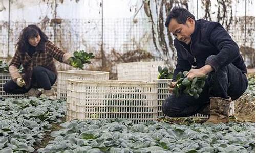
[[[91,59],[94,58],[93,53],[84,52],[84,50],[75,51],[74,57],[71,57],[71,65],[75,68],[83,69],[83,64],[91,63]]]

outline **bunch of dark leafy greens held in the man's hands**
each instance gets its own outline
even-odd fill
[[[205,85],[205,77],[195,77],[193,80],[189,80],[186,76],[188,71],[179,72],[176,76],[177,84],[173,89],[173,93],[176,97],[179,97],[180,94],[185,93],[190,96],[194,96],[196,99],[199,98],[200,93],[203,91]]]

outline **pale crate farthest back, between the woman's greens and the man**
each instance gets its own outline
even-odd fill
[[[157,78],[159,65],[165,67],[163,61],[117,64],[117,78],[118,80],[152,81]]]

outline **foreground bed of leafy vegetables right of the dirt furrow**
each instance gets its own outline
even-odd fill
[[[62,123],[63,129],[46,152],[253,152],[254,123],[177,125],[148,121],[134,124],[131,120],[73,120]]]

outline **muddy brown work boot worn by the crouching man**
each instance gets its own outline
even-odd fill
[[[229,109],[231,98],[210,97],[210,118],[205,123],[227,123],[229,122]]]

